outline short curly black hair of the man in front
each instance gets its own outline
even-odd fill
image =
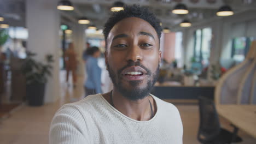
[[[162,28],[160,26],[160,21],[156,18],[156,16],[151,13],[147,8],[140,7],[138,4],[125,5],[124,10],[112,13],[112,15],[109,17],[108,21],[104,25],[103,34],[106,40],[106,46],[107,37],[110,30],[114,27],[116,23],[128,17],[138,17],[150,23],[150,25],[154,27],[160,40]]]

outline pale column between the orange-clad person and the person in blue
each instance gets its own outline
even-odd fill
[[[73,42],[75,46],[75,52],[77,53],[77,75],[84,75],[84,61],[83,61],[83,52],[85,50],[85,25],[75,23],[73,27]]]

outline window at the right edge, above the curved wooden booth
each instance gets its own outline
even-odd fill
[[[253,37],[236,37],[232,39],[231,57],[235,61],[242,62],[245,59],[254,39],[255,38]]]

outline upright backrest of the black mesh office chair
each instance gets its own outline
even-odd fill
[[[200,142],[210,142],[220,133],[219,117],[213,100],[199,97],[200,125],[197,139]]]

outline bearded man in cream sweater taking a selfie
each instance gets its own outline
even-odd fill
[[[176,107],[149,94],[159,73],[159,21],[146,8],[126,6],[103,33],[113,91],[62,106],[50,143],[182,143]]]

